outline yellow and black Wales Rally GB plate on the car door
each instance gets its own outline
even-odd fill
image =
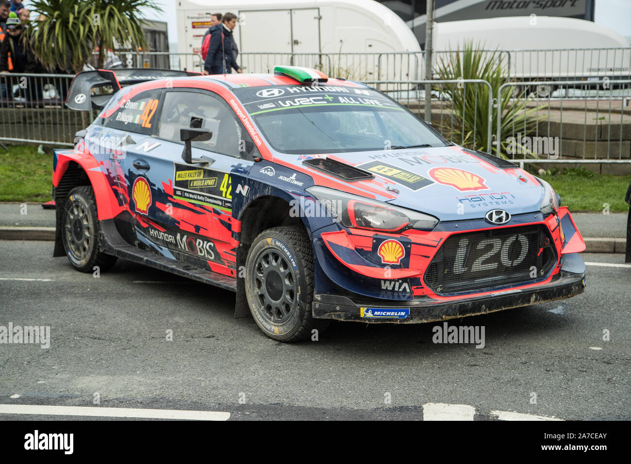
[[[175,163],[174,198],[232,210],[232,178],[227,172]]]

